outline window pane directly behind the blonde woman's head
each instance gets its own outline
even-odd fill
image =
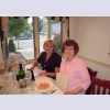
[[[52,38],[56,43],[56,53],[62,55],[61,45],[61,21],[47,20],[45,16],[38,16],[38,34],[40,34],[40,53],[42,53],[43,44],[47,38]]]

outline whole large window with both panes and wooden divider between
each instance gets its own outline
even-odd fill
[[[22,26],[21,26],[22,25]],[[56,53],[62,55],[62,43],[66,28],[64,23],[57,20],[51,20],[47,16],[30,16],[28,19],[11,19],[8,23],[7,53],[9,55],[18,52],[28,61],[36,59],[43,52],[45,40],[52,38],[56,43]],[[10,46],[9,41],[12,41]],[[7,59],[6,58],[6,59]]]

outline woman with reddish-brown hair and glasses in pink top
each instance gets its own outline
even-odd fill
[[[63,53],[66,58],[62,61],[61,73],[68,75],[68,84],[65,95],[85,95],[90,85],[90,76],[85,63],[76,56],[79,51],[74,40],[66,40],[63,44]]]

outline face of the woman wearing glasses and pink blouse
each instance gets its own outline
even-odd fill
[[[66,56],[67,58],[74,57],[74,55],[75,55],[74,46],[65,46],[64,53],[65,53],[65,56]]]

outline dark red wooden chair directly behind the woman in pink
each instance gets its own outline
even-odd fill
[[[91,86],[94,85],[94,81],[92,81],[92,78],[97,76],[97,73],[96,70],[92,70],[91,68],[87,67],[88,69],[88,73],[90,75],[90,80],[91,80],[91,84],[90,86],[88,87],[88,89],[86,90],[86,95],[90,95],[91,94]]]

